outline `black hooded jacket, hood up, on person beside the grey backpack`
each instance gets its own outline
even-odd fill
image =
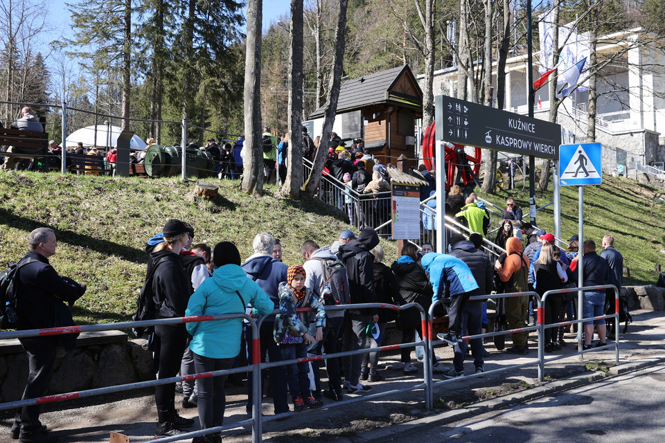
[[[369,253],[379,244],[379,236],[373,228],[364,228],[357,239],[339,246],[337,257],[346,266],[348,289],[351,293],[351,304],[377,302],[374,290],[374,256]],[[351,314],[374,315],[378,309],[361,309]]]

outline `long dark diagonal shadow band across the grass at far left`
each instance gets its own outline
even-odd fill
[[[11,226],[12,228],[20,230],[26,230],[28,232],[36,228],[51,228],[55,232],[55,237],[57,238],[58,242],[66,242],[72,246],[88,248],[101,254],[117,255],[118,257],[121,257],[123,260],[127,260],[128,262],[145,264],[145,251],[142,251],[141,249],[109,242],[104,239],[90,237],[89,235],[81,235],[79,233],[73,232],[72,230],[57,229],[53,226],[48,226],[47,224],[45,225],[39,221],[21,217],[20,215],[11,213],[10,211],[3,208],[0,208],[0,220],[2,220],[2,224],[6,226]]]

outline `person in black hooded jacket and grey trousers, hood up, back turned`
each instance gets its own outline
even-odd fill
[[[351,304],[377,302],[374,291],[374,256],[371,251],[379,244],[379,236],[373,228],[364,228],[357,239],[339,246],[337,257],[344,262],[348,276],[348,289],[351,293]],[[378,323],[378,309],[348,309],[344,315],[344,338],[342,351],[355,351],[364,349],[367,336],[365,329],[373,321]],[[362,354],[356,354],[342,359],[344,368],[344,386],[348,392],[367,392],[372,388],[360,383],[360,366]]]

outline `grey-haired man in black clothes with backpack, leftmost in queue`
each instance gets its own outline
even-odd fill
[[[42,329],[46,327],[74,326],[69,310],[85,293],[85,285],[61,277],[48,263],[55,254],[55,233],[49,228],[37,228],[28,236],[30,251],[19,261],[16,328]],[[65,304],[69,303],[69,307]],[[21,399],[42,397],[53,376],[55,351],[58,346],[71,349],[77,334],[20,338],[28,353],[28,383]],[[39,422],[39,405],[24,406],[17,410],[12,426],[12,438],[21,442],[52,442],[57,437],[46,431]]]

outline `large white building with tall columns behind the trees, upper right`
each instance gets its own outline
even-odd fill
[[[663,165],[665,162],[665,42],[643,28],[625,30],[598,39],[597,64],[601,66],[596,91],[596,141],[603,145],[603,170],[617,165],[629,170],[635,164]],[[533,80],[540,77],[540,53],[533,53]],[[528,114],[527,57],[517,55],[506,62],[504,109]],[[550,66],[552,67],[552,66]],[[494,61],[493,84],[497,84]],[[561,73],[564,69],[559,69]],[[586,76],[582,74],[582,79]],[[552,76],[550,77],[552,78]],[[556,81],[553,80],[553,81]],[[562,80],[561,80],[562,81]],[[423,75],[418,76],[421,88]],[[455,96],[456,67],[434,73],[434,96]],[[572,93],[558,108],[562,143],[584,143],[587,130],[587,89]],[[536,91],[535,118],[549,119],[549,85]]]

